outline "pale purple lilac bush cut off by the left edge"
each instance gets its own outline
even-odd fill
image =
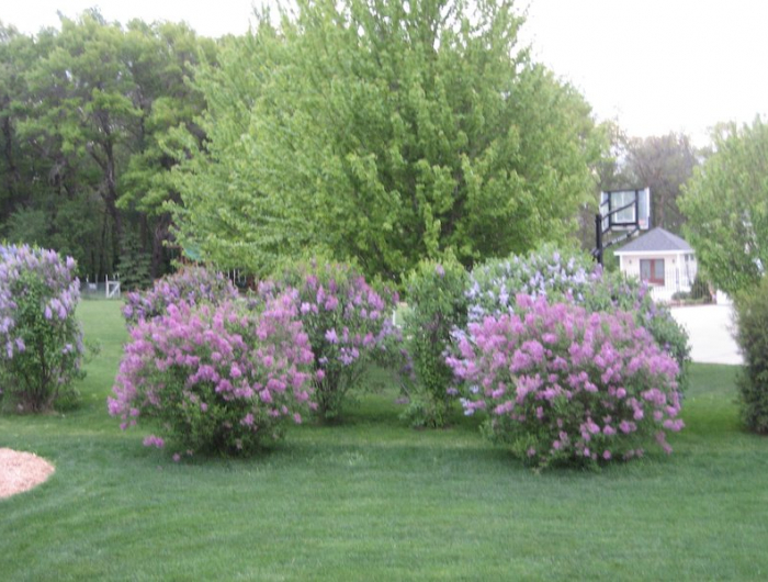
[[[75,259],[54,250],[0,246],[0,398],[24,412],[77,401],[84,376]]]

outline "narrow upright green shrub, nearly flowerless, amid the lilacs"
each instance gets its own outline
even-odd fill
[[[410,309],[404,316],[404,335],[415,382],[404,417],[415,426],[443,426],[458,394],[445,356],[452,331],[466,326],[467,280],[455,259],[422,261],[408,278]]]

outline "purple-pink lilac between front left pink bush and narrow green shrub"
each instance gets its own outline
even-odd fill
[[[298,264],[260,284],[262,296],[298,290],[300,317],[314,352],[315,400],[326,421],[341,414],[350,392],[372,362],[399,357],[399,332],[391,313],[397,295],[379,293],[354,268],[317,261]]]

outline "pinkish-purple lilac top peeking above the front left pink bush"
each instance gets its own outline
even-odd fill
[[[142,320],[165,314],[169,305],[182,301],[190,305],[201,302],[218,304],[236,298],[237,289],[221,272],[214,273],[203,267],[185,267],[158,279],[148,291],[126,293],[123,316],[131,327]]]

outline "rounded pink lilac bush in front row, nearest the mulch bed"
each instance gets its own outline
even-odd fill
[[[252,307],[252,306],[251,306]],[[302,422],[312,394],[309,340],[296,294],[246,310],[234,302],[170,304],[142,320],[120,365],[109,411],[122,428],[157,421],[188,451],[250,454]]]

